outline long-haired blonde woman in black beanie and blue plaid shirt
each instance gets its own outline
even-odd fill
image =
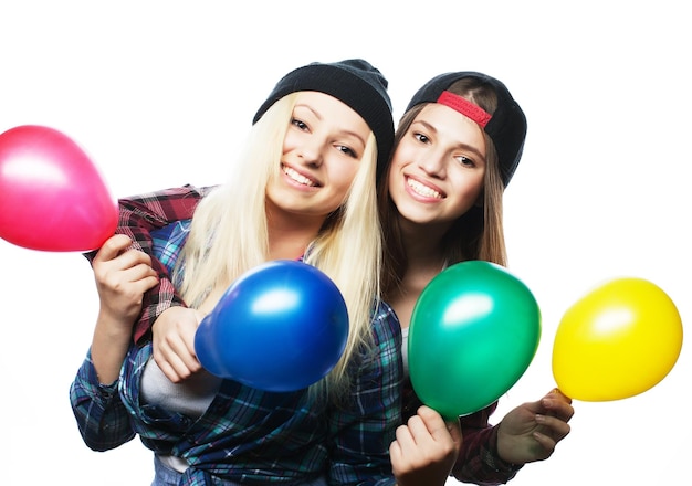
[[[101,313],[71,387],[90,447],[113,448],[138,434],[155,452],[154,485],[391,483],[401,337],[377,298],[375,191],[394,138],[386,87],[363,60],[300,67],[258,110],[226,186],[129,200],[139,235],[180,221],[158,235],[158,260],[130,247],[134,240],[151,250],[150,236],[133,233],[93,256]],[[350,321],[342,360],[321,382],[287,393],[207,373],[193,357],[199,319],[240,274],[279,258],[303,258],[339,287]],[[175,363],[159,367],[153,358],[147,324],[135,327],[133,340],[143,294],[171,290],[169,271],[189,307],[162,313],[154,336],[167,314],[185,315],[170,319],[178,331],[166,338],[191,359],[187,367],[184,358],[179,377],[170,372]],[[171,304],[145,302],[145,321],[147,308],[156,315]]]

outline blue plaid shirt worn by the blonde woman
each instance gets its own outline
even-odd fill
[[[189,221],[154,232],[156,256],[171,268]],[[98,383],[91,352],[70,389],[85,443],[117,447],[139,435],[157,453],[185,458],[181,485],[300,484],[325,476],[336,485],[394,484],[389,445],[401,423],[401,330],[381,303],[373,319],[373,350],[349,364],[352,391],[336,406],[307,390],[265,392],[223,380],[208,410],[191,419],[139,402],[151,345],[133,345],[118,381]]]

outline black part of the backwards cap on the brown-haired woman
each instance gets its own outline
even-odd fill
[[[506,187],[518,166],[522,151],[524,150],[526,116],[501,81],[472,71],[440,74],[426,83],[413,95],[406,110],[408,112],[421,103],[436,103],[443,91],[464,77],[480,80],[482,83],[490,85],[497,95],[497,109],[492,114],[484,130],[495,145],[497,158],[500,159],[502,182]]]

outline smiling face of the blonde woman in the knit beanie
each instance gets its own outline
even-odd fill
[[[370,134],[343,102],[317,92],[297,95],[283,142],[281,172],[266,189],[279,209],[326,216],[344,203]]]

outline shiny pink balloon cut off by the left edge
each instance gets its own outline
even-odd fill
[[[0,134],[0,237],[31,250],[85,252],[115,233],[116,200],[67,136],[24,125]]]

